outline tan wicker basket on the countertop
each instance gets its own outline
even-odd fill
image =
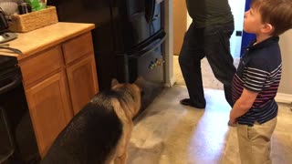
[[[45,9],[27,13],[25,15],[11,15],[11,20],[8,21],[8,26],[9,30],[12,32],[25,33],[56,23],[56,7],[47,6]]]

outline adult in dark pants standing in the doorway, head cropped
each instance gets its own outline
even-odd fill
[[[189,98],[180,102],[193,108],[205,108],[201,60],[205,56],[214,77],[224,84],[224,95],[233,107],[231,83],[235,74],[230,54],[230,36],[234,32],[234,16],[228,0],[186,0],[193,22],[184,35],[179,56]]]

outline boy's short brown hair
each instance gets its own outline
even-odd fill
[[[274,27],[272,36],[292,28],[292,0],[253,0],[251,6],[259,11],[263,23]]]

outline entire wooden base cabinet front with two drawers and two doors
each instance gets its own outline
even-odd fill
[[[19,61],[42,158],[70,119],[99,92],[90,31],[52,45]]]

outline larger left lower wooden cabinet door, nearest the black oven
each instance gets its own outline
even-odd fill
[[[26,89],[26,98],[41,157],[73,117],[64,72]]]

